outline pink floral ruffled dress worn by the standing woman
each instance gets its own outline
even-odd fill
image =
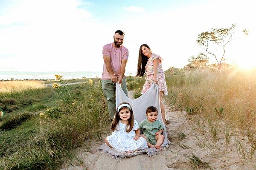
[[[158,67],[158,74],[157,74],[157,84],[159,87],[159,91],[163,91],[163,95],[168,95],[166,81],[165,81],[165,74],[163,72],[162,64],[161,64],[163,59],[160,56],[153,54],[153,53],[151,54],[146,66],[145,66],[146,81],[145,81],[145,84],[141,91],[141,94],[144,94],[146,91],[148,91],[150,86],[154,83],[154,81],[153,81],[153,77],[154,77],[153,61],[154,61],[154,59],[157,59],[157,58],[160,59],[160,64]]]

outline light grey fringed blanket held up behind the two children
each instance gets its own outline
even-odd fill
[[[160,109],[159,90],[158,90],[158,86],[156,84],[153,83],[153,85],[151,85],[151,88],[149,88],[148,91],[145,94],[143,94],[142,96],[140,96],[139,98],[129,99],[125,95],[125,93],[122,91],[122,88],[120,87],[120,85],[118,83],[116,83],[116,107],[121,102],[130,103],[130,105],[133,109],[133,112],[134,112],[134,119],[137,120],[138,123],[140,123],[142,120],[147,118],[146,117],[146,109],[149,106],[156,107],[158,110],[157,119],[159,119],[161,121],[162,125],[164,125],[163,119],[162,119],[162,114],[161,114],[161,109]],[[163,147],[168,147],[170,144],[170,141],[167,138],[165,126],[164,126],[162,134],[164,136],[164,141],[162,144],[162,149],[163,149]],[[107,144],[103,144],[101,147],[98,148],[98,150],[103,151],[103,152],[107,153],[108,155],[113,156],[114,159],[118,159],[119,161],[121,161],[125,157],[131,157],[131,156],[139,155],[142,153],[147,153],[148,156],[153,156],[154,154],[157,154],[160,151],[159,149],[156,149],[156,148],[146,148],[143,150],[132,151],[132,153],[124,153],[124,152],[115,150],[113,148],[110,148]]]

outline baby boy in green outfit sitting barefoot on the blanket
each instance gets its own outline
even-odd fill
[[[163,125],[160,120],[157,120],[157,108],[154,106],[149,106],[146,110],[147,119],[139,123],[140,130],[143,129],[143,134],[140,137],[143,137],[147,140],[149,148],[161,149],[163,144],[164,136]]]

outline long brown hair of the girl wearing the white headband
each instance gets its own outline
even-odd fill
[[[120,105],[122,105],[122,104],[128,104],[128,105],[130,105],[130,104],[127,103],[127,102],[122,102],[122,103],[120,103]],[[130,105],[130,107],[131,107],[131,105]],[[122,111],[123,108],[127,108],[127,107],[124,106],[124,107],[120,108],[120,109],[119,109],[119,112]],[[125,128],[125,131],[126,131],[126,132],[131,132],[131,130],[132,130],[132,128],[133,128],[133,125],[134,125],[134,116],[133,116],[132,108],[129,109],[129,110],[130,110],[130,112],[131,112],[131,116],[130,116],[130,118],[128,119],[128,125],[126,125],[126,128]],[[121,118],[120,118],[120,116],[119,116],[119,112],[117,112],[117,109],[116,109],[116,113],[115,113],[115,116],[114,116],[114,119],[113,119],[112,125],[111,125],[111,130],[112,130],[112,131],[114,131],[114,130],[117,130],[117,131],[118,131],[118,129],[117,129],[116,127],[117,127],[117,125],[118,125],[119,120],[121,120]]]

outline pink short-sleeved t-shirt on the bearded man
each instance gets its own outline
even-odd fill
[[[111,58],[111,66],[113,69],[114,74],[116,77],[119,77],[120,71],[121,71],[121,62],[122,59],[128,60],[128,49],[121,45],[119,48],[115,48],[113,46],[113,42],[107,45],[104,45],[102,50],[103,57],[104,56],[110,56]],[[102,78],[101,79],[111,79],[110,74],[108,74],[107,67],[103,65],[103,72],[102,72]]]

